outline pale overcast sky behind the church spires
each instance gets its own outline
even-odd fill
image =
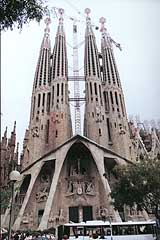
[[[62,7],[65,14],[78,20],[78,42],[84,40],[84,9],[91,9],[91,18],[100,26],[105,17],[111,37],[121,43],[122,51],[114,47],[128,115],[141,120],[160,119],[160,1],[159,0],[51,0],[52,7]],[[76,6],[76,7],[75,7]],[[72,24],[64,19],[66,39],[72,45]],[[53,49],[58,20],[52,15],[50,24]],[[2,33],[2,134],[17,121],[17,141],[22,144],[28,127],[31,93],[39,49],[44,35],[44,21],[31,22],[22,32],[14,29]],[[94,30],[100,51],[101,33]],[[72,49],[68,46],[69,65]],[[84,45],[79,48],[79,68],[83,74]],[[8,136],[9,136],[8,134]]]

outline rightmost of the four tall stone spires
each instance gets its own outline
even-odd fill
[[[117,44],[109,36],[105,22],[105,18],[100,18],[103,97],[108,130],[108,144],[112,150],[121,156],[131,159],[134,157],[132,156],[132,144],[129,135],[124,96],[112,46],[112,43],[114,43],[120,48],[120,44]]]

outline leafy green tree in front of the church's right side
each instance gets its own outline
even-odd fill
[[[154,214],[160,221],[160,160],[149,158],[135,164],[117,167],[117,180],[111,197],[116,209],[124,205]]]

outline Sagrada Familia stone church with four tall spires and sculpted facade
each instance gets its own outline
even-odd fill
[[[11,138],[1,140],[1,180],[21,171],[15,193],[13,230],[48,229],[69,221],[121,221],[110,204],[116,165],[145,157],[160,158],[160,130],[145,131],[128,121],[113,40],[101,18],[101,51],[86,10],[84,47],[85,111],[83,135],[72,133],[69,104],[67,44],[63,11],[53,51],[49,18],[33,82],[29,127],[18,164],[16,124]],[[126,220],[147,219],[143,212],[125,213]],[[7,227],[9,209],[3,215]]]

